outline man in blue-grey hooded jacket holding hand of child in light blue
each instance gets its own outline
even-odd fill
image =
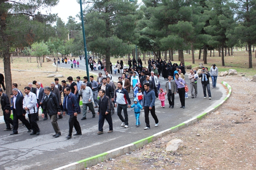
[[[156,101],[156,96],[154,94],[154,90],[151,90],[149,88],[149,83],[144,83],[144,97],[143,97],[143,104],[142,104],[142,109],[144,109],[145,113],[145,123],[146,127],[144,127],[145,130],[150,129],[150,124],[149,124],[149,111],[152,115],[152,117],[155,120],[155,127],[158,126],[158,118],[156,116],[156,110],[155,110],[155,101]]]

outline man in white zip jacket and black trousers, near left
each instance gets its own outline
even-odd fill
[[[31,129],[33,130],[30,135],[39,135],[40,129],[38,127],[38,124],[36,123],[36,117],[37,117],[37,99],[36,94],[30,92],[30,87],[24,88],[24,93],[26,94],[23,99],[23,109],[26,110],[28,113],[28,119],[31,125]]]

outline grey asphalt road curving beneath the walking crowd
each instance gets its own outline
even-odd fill
[[[60,64],[60,67],[70,68],[70,64]],[[84,61],[80,62],[80,69],[85,70]],[[98,73],[93,72],[93,73]],[[86,74],[85,74],[86,75]],[[104,74],[103,74],[104,75]],[[116,80],[120,74],[114,76]],[[188,82],[188,76],[185,75]],[[165,81],[160,77],[160,82],[164,86]],[[0,124],[0,169],[1,170],[51,170],[76,162],[111,149],[115,149],[132,142],[138,141],[175,125],[186,121],[212,106],[217,105],[226,96],[226,90],[221,84],[212,89],[212,100],[204,99],[202,85],[198,81],[198,97],[192,99],[190,91],[186,99],[186,108],[180,108],[178,94],[175,95],[175,106],[168,108],[166,96],[166,108],[161,108],[159,100],[156,100],[156,115],[159,119],[159,126],[154,127],[154,119],[150,115],[151,129],[144,130],[144,111],[140,115],[140,127],[136,127],[136,119],[132,108],[128,108],[129,127],[121,127],[121,121],[116,112],[112,116],[113,133],[108,131],[108,123],[105,121],[104,134],[96,135],[98,131],[98,115],[92,118],[92,113],[87,113],[87,120],[81,121],[82,114],[78,115],[78,121],[82,129],[82,136],[72,136],[67,140],[68,135],[68,116],[58,120],[62,135],[59,138],[53,138],[54,130],[50,120],[43,121],[42,117],[38,121],[41,130],[39,136],[29,135],[26,127],[19,124],[18,135],[10,135],[11,131],[3,131],[5,124]],[[132,93],[130,93],[132,96]],[[73,131],[73,134],[76,131]]]

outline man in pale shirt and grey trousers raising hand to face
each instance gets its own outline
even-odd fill
[[[89,110],[92,112],[92,118],[94,118],[95,111],[92,104],[92,89],[90,87],[87,87],[85,83],[82,83],[78,94],[81,95],[83,99],[83,117],[81,120],[86,120],[87,106],[89,107]]]

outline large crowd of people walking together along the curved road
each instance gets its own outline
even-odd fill
[[[137,64],[138,62],[138,64]],[[128,113],[127,108],[134,109],[136,118],[136,127],[140,127],[140,111],[144,109],[146,127],[150,129],[149,112],[151,113],[155,127],[158,126],[158,117],[156,116],[155,101],[161,101],[161,107],[165,107],[165,96],[167,95],[169,107],[174,108],[174,95],[178,93],[180,97],[180,108],[185,108],[185,99],[188,98],[188,86],[185,81],[184,74],[186,74],[183,63],[179,65],[170,61],[162,61],[161,59],[148,61],[148,68],[142,66],[140,58],[136,62],[135,59],[129,59],[129,68],[124,68],[122,61],[117,61],[116,68],[120,76],[117,82],[117,87],[113,82],[113,76],[108,70],[104,70],[105,76],[101,72],[94,80],[94,76],[76,77],[76,81],[69,76],[66,80],[62,80],[59,84],[59,79],[55,78],[50,86],[43,87],[42,83],[33,81],[28,83],[22,92],[18,89],[16,83],[12,84],[11,102],[9,102],[8,95],[4,94],[4,90],[0,88],[1,106],[4,112],[4,121],[6,129],[4,131],[11,131],[10,135],[18,134],[18,120],[28,129],[30,135],[40,135],[40,128],[37,121],[39,121],[39,108],[42,108],[42,117],[44,121],[50,117],[52,127],[55,131],[53,137],[61,135],[60,128],[58,127],[57,120],[62,119],[63,115],[69,115],[69,132],[66,136],[67,139],[72,137],[73,127],[76,133],[73,135],[82,135],[80,123],[77,115],[82,113],[82,121],[86,120],[87,113],[92,113],[92,118],[99,115],[98,132],[102,134],[104,120],[109,124],[108,133],[113,132],[112,115],[115,113],[116,107],[117,115],[122,121],[121,126],[128,128]],[[90,63],[90,59],[89,59]],[[95,64],[92,61],[93,65]],[[101,62],[99,68],[106,66],[106,61]],[[132,67],[130,66],[132,64]],[[103,67],[104,68],[104,67]],[[93,68],[94,70],[94,68]],[[160,75],[166,81],[161,88]],[[206,98],[206,89],[208,97],[211,99],[210,82],[209,78],[212,77],[212,87],[216,88],[216,78],[218,76],[218,68],[213,64],[210,72],[207,67],[202,68],[202,72],[198,75],[196,70],[190,70],[188,80],[190,82],[191,98],[197,97],[197,80],[201,78],[202,87],[204,91],[204,98]],[[36,88],[33,87],[33,84]],[[165,85],[165,86],[164,86]],[[129,93],[132,92],[134,96],[133,104],[130,100]],[[61,98],[63,94],[63,100]],[[82,98],[82,101],[80,99]],[[80,102],[82,102],[80,104]],[[80,108],[82,105],[82,111]],[[88,107],[88,111],[87,111]],[[10,118],[10,113],[13,113],[13,119]],[[122,115],[124,113],[124,117]],[[25,115],[28,114],[28,120]],[[12,126],[11,126],[12,125]]]

